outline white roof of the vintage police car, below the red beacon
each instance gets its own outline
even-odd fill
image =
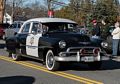
[[[49,22],[67,22],[67,23],[74,23],[77,24],[75,21],[69,20],[69,19],[63,19],[63,18],[34,18],[29,19],[26,22],[30,21],[38,21],[41,23],[49,23]]]

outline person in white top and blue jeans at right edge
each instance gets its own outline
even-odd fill
[[[117,57],[120,43],[120,23],[115,23],[115,29],[112,31],[112,57]]]

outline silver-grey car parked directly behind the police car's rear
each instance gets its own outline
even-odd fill
[[[9,28],[5,30],[5,38],[12,37],[17,34],[22,24],[23,21],[14,21],[13,24],[11,24]]]

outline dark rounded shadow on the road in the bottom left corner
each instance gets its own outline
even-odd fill
[[[0,77],[0,84],[33,84],[35,78],[30,76]]]

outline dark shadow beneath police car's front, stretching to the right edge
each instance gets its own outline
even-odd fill
[[[109,61],[103,61],[102,66],[100,69],[91,69],[88,67],[87,64],[82,63],[69,63],[65,64],[60,68],[60,71],[103,71],[103,70],[116,70],[120,69],[120,62],[109,60]]]

